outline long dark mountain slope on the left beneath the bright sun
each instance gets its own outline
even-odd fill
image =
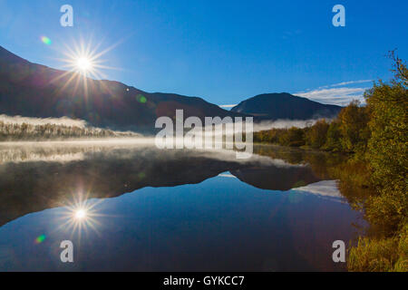
[[[84,82],[86,80],[86,82]],[[94,127],[152,131],[160,116],[243,116],[197,97],[143,92],[121,82],[92,80],[30,63],[0,46],[0,114],[82,119]]]

